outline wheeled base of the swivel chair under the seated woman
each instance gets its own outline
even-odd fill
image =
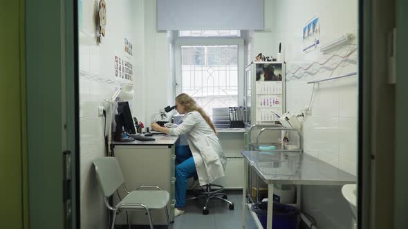
[[[198,179],[198,177],[194,177],[194,180]],[[230,210],[234,210],[234,203],[229,201],[227,199],[227,194],[223,192],[224,187],[219,186],[216,184],[208,183],[205,186],[198,186],[197,188],[194,189],[194,197],[187,199],[187,201],[192,200],[192,199],[205,199],[205,203],[203,206],[203,215],[208,215],[210,211],[208,210],[208,202],[210,199],[219,199],[221,201],[224,201],[226,203],[230,203],[228,208]]]

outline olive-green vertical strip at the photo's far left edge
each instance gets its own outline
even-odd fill
[[[28,225],[23,2],[0,3],[0,227],[17,229]]]

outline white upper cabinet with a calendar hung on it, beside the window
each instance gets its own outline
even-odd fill
[[[245,68],[243,91],[245,124],[274,124],[286,112],[286,64],[250,63]]]

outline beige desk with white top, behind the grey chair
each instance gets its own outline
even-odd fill
[[[174,144],[178,137],[169,135],[154,135],[156,141],[114,141],[113,153],[118,159],[124,182],[128,190],[136,190],[139,186],[159,186],[170,193],[169,209],[170,221],[174,216]],[[114,195],[114,203],[118,203]],[[120,192],[124,197],[125,192]],[[128,212],[132,224],[149,224],[144,211]],[[151,217],[155,225],[167,224],[164,210],[152,210]],[[118,215],[117,224],[125,225],[126,215]]]

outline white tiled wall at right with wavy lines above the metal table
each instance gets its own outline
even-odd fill
[[[313,91],[311,115],[304,119],[305,152],[352,175],[357,171],[358,77],[318,83],[314,90],[307,82],[357,72],[357,6],[355,0],[276,1],[274,39],[282,42],[287,63],[287,110],[303,110]],[[346,33],[353,33],[351,43],[326,53],[319,48],[302,52],[302,28],[316,16],[320,46]]]

